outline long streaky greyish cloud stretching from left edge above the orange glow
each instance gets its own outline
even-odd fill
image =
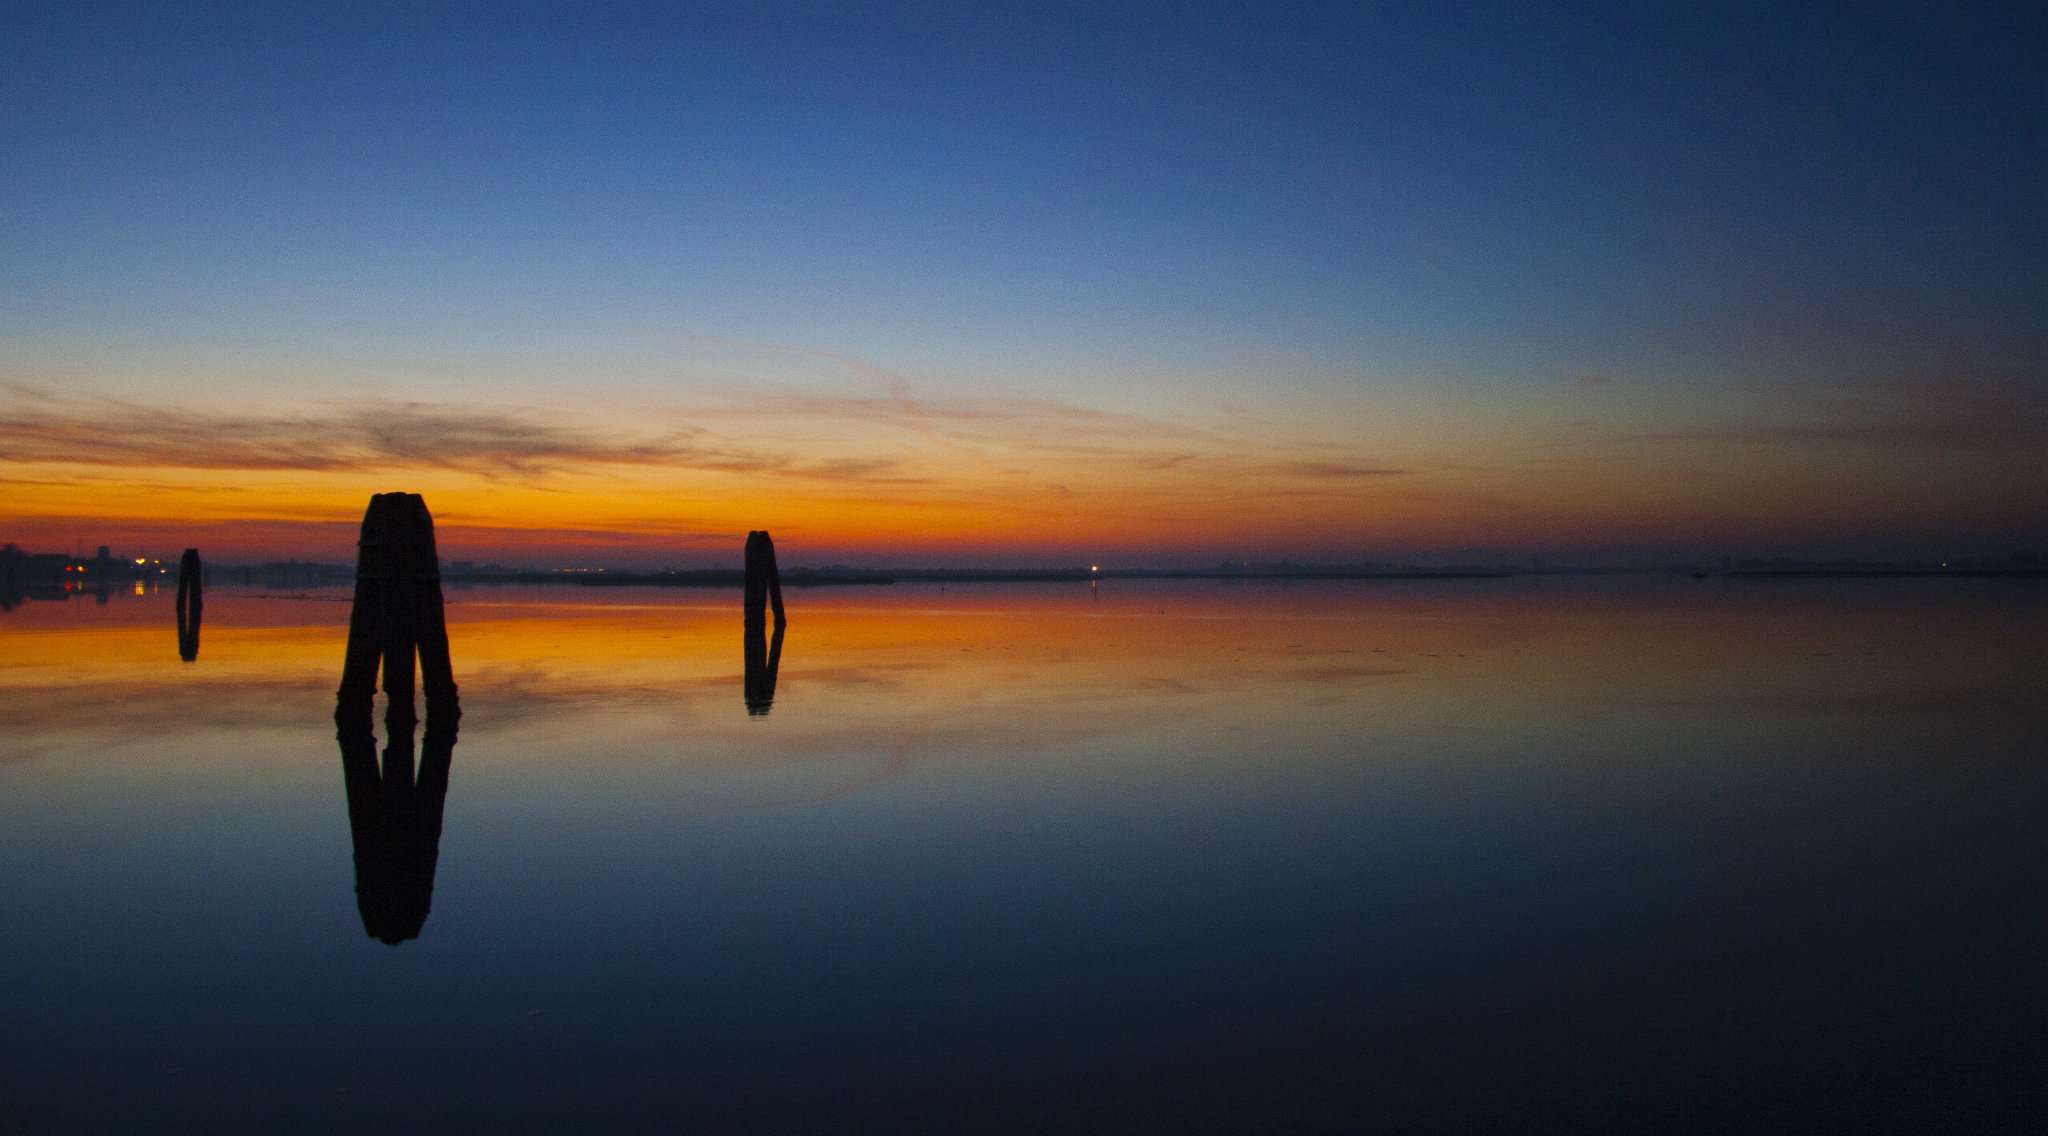
[[[451,469],[537,479],[580,467],[659,467],[823,481],[915,481],[889,458],[799,461],[725,446],[702,428],[621,434],[541,422],[520,409],[371,403],[313,413],[211,413],[84,405],[8,385],[0,463],[100,467],[373,471]],[[33,399],[27,395],[35,395]]]

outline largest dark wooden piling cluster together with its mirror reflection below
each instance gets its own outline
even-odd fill
[[[426,688],[426,739],[414,768],[414,659]],[[385,753],[377,761],[373,698],[383,671]],[[420,937],[434,899],[440,815],[463,718],[449,663],[434,518],[414,493],[371,497],[348,610],[348,655],[334,733],[348,790],[362,929],[397,946]]]

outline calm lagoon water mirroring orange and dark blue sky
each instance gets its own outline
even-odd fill
[[[344,592],[0,616],[0,1130],[2048,1122],[2042,587],[449,598],[395,946]]]

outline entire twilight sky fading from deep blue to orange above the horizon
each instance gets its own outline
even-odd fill
[[[2038,6],[0,8],[25,549],[2048,551]]]

